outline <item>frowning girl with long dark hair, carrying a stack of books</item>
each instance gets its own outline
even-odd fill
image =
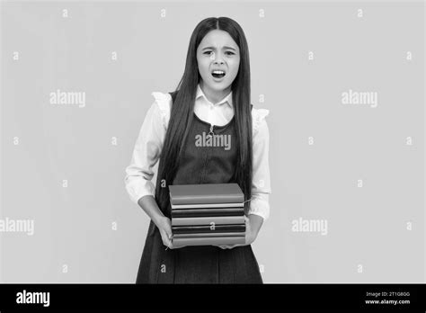
[[[130,198],[151,219],[137,283],[262,283],[251,244],[270,210],[268,111],[254,109],[250,94],[241,26],[226,17],[201,21],[176,90],[153,93],[155,103],[126,168]],[[229,135],[230,148],[196,145],[203,132]],[[245,198],[244,245],[173,247],[168,186],[200,183],[239,184]]]

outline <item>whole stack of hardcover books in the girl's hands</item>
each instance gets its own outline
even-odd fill
[[[170,185],[173,246],[245,243],[244,193],[237,183]]]

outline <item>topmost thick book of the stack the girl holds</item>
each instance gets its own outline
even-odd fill
[[[172,204],[244,202],[237,183],[176,184],[169,186]]]

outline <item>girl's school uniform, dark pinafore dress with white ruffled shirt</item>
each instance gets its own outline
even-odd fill
[[[151,182],[152,166],[161,154],[164,135],[170,120],[170,108],[175,93],[153,93],[155,103],[146,114],[139,132],[131,164],[126,168],[126,189],[130,198],[138,200],[146,194],[159,203],[161,177],[155,187]],[[235,139],[235,118],[232,92],[221,102],[210,103],[197,88],[194,116],[188,138],[179,160],[179,168],[172,184],[236,183],[233,174],[237,148],[231,141],[228,148],[197,147],[196,136],[209,133],[213,124],[215,135],[230,135]],[[268,111],[256,110],[252,105],[253,117],[253,188],[248,214],[269,218],[271,193],[268,165],[269,132],[265,117]],[[160,121],[160,122],[158,122]],[[171,218],[170,201],[160,208]],[[137,283],[262,283],[259,264],[253,255],[252,246],[236,246],[222,249],[218,246],[184,246],[166,249],[160,231],[151,220],[146,242],[138,268]]]

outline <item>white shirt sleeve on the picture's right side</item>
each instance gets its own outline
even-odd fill
[[[253,109],[254,110],[254,109]],[[263,221],[269,219],[271,194],[271,175],[269,166],[269,129],[265,117],[269,111],[257,110],[253,128],[253,183],[252,201],[248,214],[259,215]]]

